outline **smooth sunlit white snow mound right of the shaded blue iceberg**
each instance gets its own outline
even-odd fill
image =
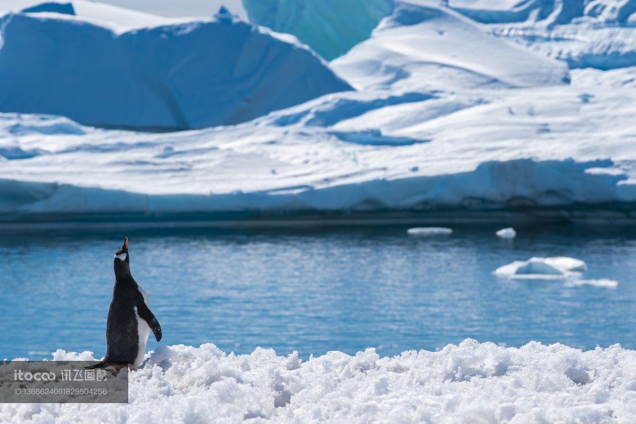
[[[417,0],[398,1],[370,39],[332,66],[359,89],[528,87],[568,80],[565,64],[502,41],[455,11]]]

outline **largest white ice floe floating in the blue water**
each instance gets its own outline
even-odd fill
[[[495,275],[524,279],[570,279],[580,278],[587,270],[583,260],[562,256],[515,260],[512,264],[495,269]]]

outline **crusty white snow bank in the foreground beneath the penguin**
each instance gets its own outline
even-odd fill
[[[92,360],[59,350],[55,360]],[[301,362],[258,348],[162,346],[130,378],[129,404],[4,404],[0,420],[59,422],[633,422],[636,351],[522,348],[466,339],[380,358]]]

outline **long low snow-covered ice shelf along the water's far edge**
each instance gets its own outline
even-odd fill
[[[228,211],[237,218],[450,209],[466,220],[473,211],[511,211],[628,222],[634,105],[633,89],[598,86],[370,90],[325,95],[235,127],[167,134],[4,114],[0,213],[209,220],[216,218],[205,214]]]

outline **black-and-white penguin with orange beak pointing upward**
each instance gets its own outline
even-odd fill
[[[113,301],[106,323],[106,357],[87,369],[109,366],[137,369],[144,361],[150,330],[157,341],[161,340],[161,327],[148,307],[148,294],[130,275],[128,237],[115,253],[114,271]]]

